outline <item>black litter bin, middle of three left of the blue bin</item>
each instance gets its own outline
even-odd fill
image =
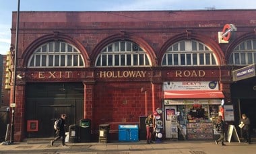
[[[90,142],[91,140],[91,120],[79,120],[79,142]]]

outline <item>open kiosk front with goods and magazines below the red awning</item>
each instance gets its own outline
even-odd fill
[[[164,100],[167,139],[214,139],[221,100],[201,101]]]

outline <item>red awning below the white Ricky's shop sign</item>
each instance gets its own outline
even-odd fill
[[[224,98],[222,91],[207,90],[207,91],[164,91],[164,99],[173,98]]]

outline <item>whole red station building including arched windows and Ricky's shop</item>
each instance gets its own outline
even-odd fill
[[[232,79],[255,64],[255,13],[21,11],[14,140],[53,137],[63,113],[67,125],[90,119],[92,139],[100,124],[118,139],[119,124],[141,125],[159,108],[164,139],[213,139],[220,114],[256,123],[255,77]]]

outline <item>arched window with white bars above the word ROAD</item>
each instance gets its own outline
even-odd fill
[[[172,44],[163,56],[162,66],[218,65],[216,56],[205,44],[182,40]]]

